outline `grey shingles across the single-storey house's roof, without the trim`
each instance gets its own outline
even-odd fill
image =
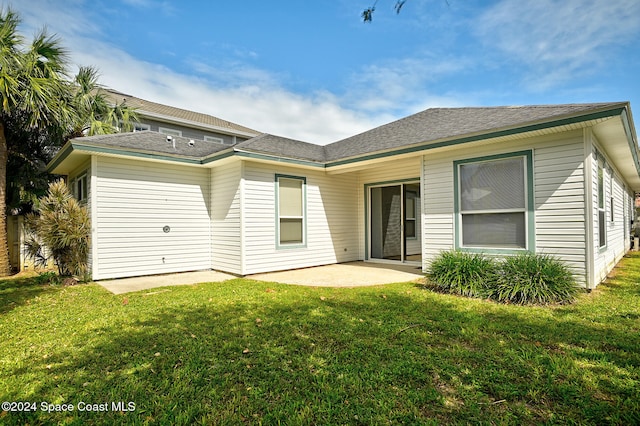
[[[150,155],[180,155],[194,160],[203,160],[217,152],[229,150],[229,152],[242,151],[280,159],[309,161],[323,166],[343,159],[357,159],[368,154],[393,152],[412,146],[420,148],[443,140],[464,139],[475,135],[492,137],[491,135],[496,132],[511,131],[511,129],[518,133],[532,126],[552,127],[564,119],[580,122],[600,113],[608,117],[627,105],[626,102],[616,102],[521,107],[431,108],[326,146],[270,134],[261,134],[233,147],[203,141],[195,141],[194,145],[190,146],[188,138],[174,137],[170,143],[167,142],[166,135],[152,131],[91,136],[75,141],[79,144],[144,151]],[[175,142],[175,148],[173,142]]]

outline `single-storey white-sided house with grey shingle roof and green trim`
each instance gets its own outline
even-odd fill
[[[548,253],[594,288],[630,246],[638,143],[627,102],[432,108],[318,146],[157,132],[71,140],[93,279],[237,275],[442,250]]]

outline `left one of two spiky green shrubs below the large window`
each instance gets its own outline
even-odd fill
[[[431,263],[427,278],[432,288],[450,294],[485,297],[496,263],[479,253],[445,251]]]

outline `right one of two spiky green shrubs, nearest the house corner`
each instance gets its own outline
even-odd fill
[[[580,291],[569,268],[545,254],[506,257],[494,279],[490,297],[503,303],[570,303]]]

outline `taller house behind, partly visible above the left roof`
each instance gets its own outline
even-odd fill
[[[261,133],[212,115],[147,101],[113,89],[105,89],[104,93],[114,104],[124,102],[135,108],[139,123],[134,131],[153,130],[223,145],[234,145]]]

